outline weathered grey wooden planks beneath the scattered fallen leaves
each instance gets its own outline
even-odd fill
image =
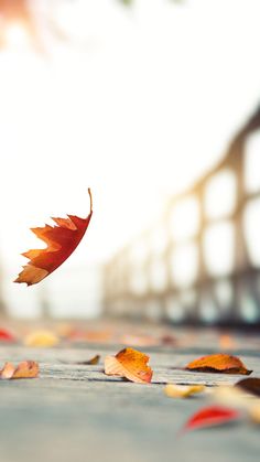
[[[251,342],[251,343],[250,343]],[[260,377],[258,342],[245,343],[240,354]],[[165,383],[236,383],[240,376],[187,373],[183,367],[198,350],[142,347],[151,357],[151,385],[107,377],[102,363],[120,345],[79,345],[74,348],[1,346],[0,362],[40,362],[37,379],[2,380],[0,400],[1,462],[245,462],[259,461],[260,427],[236,423],[228,427],[177,433],[186,419],[207,404],[205,397],[188,400],[167,398]],[[238,350],[242,345],[238,342]],[[254,345],[254,346],[253,346]],[[208,347],[207,347],[208,346]],[[201,352],[199,350],[199,352]],[[236,351],[232,353],[237,353]],[[63,361],[84,361],[101,354],[100,365],[79,366]],[[174,368],[175,367],[175,368]]]

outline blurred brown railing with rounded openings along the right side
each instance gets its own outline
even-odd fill
[[[225,159],[106,265],[109,315],[260,322],[260,110]]]

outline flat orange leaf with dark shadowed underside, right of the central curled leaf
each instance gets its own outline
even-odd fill
[[[245,364],[236,356],[225,353],[203,356],[189,363],[185,369],[203,373],[224,373],[224,374],[241,374],[249,375],[252,370],[248,370]]]

